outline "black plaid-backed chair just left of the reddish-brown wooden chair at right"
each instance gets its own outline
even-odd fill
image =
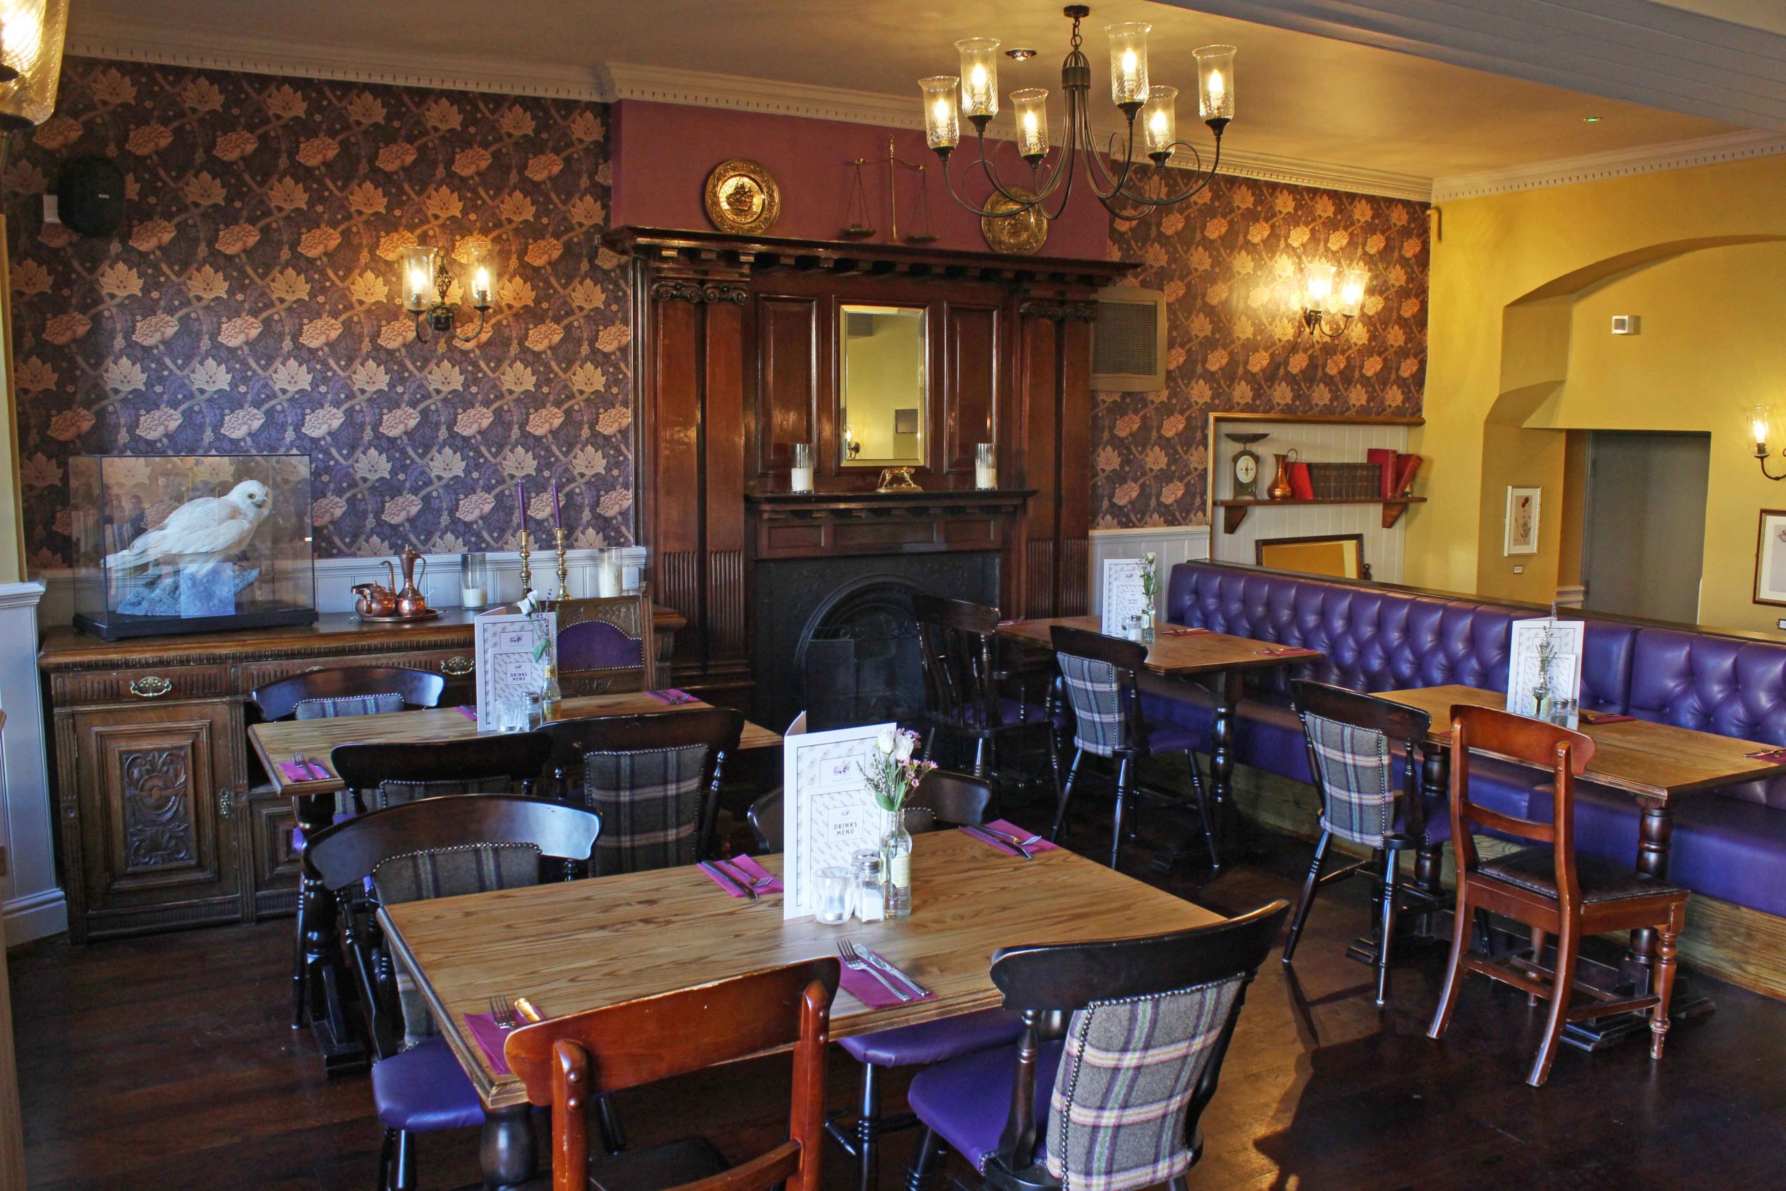
[[[1289,689],[1309,750],[1309,775],[1322,804],[1322,834],[1314,841],[1314,861],[1302,882],[1297,911],[1289,916],[1289,937],[1284,941],[1282,959],[1288,964],[1297,954],[1302,925],[1309,920],[1309,907],[1314,905],[1314,893],[1322,886],[1370,870],[1377,886],[1372,921],[1377,932],[1377,1004],[1382,1005],[1390,991],[1390,950],[1397,912],[1409,904],[1418,904],[1423,911],[1436,909],[1432,895],[1413,884],[1404,886],[1400,873],[1402,852],[1431,839],[1418,759],[1423,757],[1432,716],[1386,698],[1307,679],[1297,679]],[[1336,837],[1370,848],[1370,857],[1322,873],[1327,846]]]

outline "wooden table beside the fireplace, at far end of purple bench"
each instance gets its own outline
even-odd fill
[[[1104,621],[1097,616],[1061,616],[1056,620],[1020,620],[1000,625],[998,634],[1013,641],[1023,641],[1045,650],[1054,648],[1048,630],[1054,625],[1100,632]],[[1248,670],[1270,670],[1273,666],[1297,666],[1323,657],[1318,650],[1282,652],[1286,646],[1275,641],[1254,641],[1252,637],[1234,637],[1225,632],[1181,632],[1181,625],[1161,625],[1154,643],[1147,646],[1148,673],[1175,682],[1193,682],[1206,691],[1214,704],[1214,720],[1209,727],[1209,800],[1216,820],[1214,830],[1225,839],[1232,836],[1236,814],[1232,812],[1231,793],[1234,780],[1234,707],[1239,704],[1241,680]],[[1179,843],[1154,857],[1154,866],[1170,870],[1172,864],[1189,852],[1189,843]],[[1218,852],[1220,854],[1220,852]],[[1220,868],[1220,864],[1218,864]]]

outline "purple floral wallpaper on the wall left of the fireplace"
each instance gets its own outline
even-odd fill
[[[125,171],[114,237],[41,220],[82,154]],[[604,105],[70,59],[5,187],[32,566],[77,454],[307,452],[318,557],[513,548],[516,480],[536,530],[555,479],[573,545],[632,541]],[[479,237],[489,329],[416,343],[396,254]]]

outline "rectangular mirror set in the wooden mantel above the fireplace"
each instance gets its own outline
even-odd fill
[[[923,466],[923,307],[845,305],[838,320],[838,464]]]

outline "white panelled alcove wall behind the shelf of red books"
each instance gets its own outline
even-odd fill
[[[1268,432],[1272,437],[1254,443],[1259,454],[1259,495],[1264,495],[1272,477],[1277,475],[1273,454],[1295,450],[1302,462],[1365,462],[1365,452],[1384,446],[1397,452],[1407,450],[1407,427],[1398,425],[1347,425],[1327,421],[1231,421],[1218,423],[1209,452],[1209,509],[1214,521],[1209,543],[1209,557],[1222,562],[1252,562],[1254,543],[1259,537],[1313,537],[1316,534],[1363,534],[1365,561],[1370,562],[1370,577],[1388,584],[1402,582],[1402,562],[1406,559],[1404,536],[1409,512],[1393,529],[1382,529],[1382,507],[1366,505],[1259,505],[1247,511],[1247,520],[1232,534],[1222,532],[1222,514],[1214,500],[1232,496],[1234,471],[1229,461],[1239,452],[1227,434]],[[1418,480],[1415,491],[1418,493]]]

